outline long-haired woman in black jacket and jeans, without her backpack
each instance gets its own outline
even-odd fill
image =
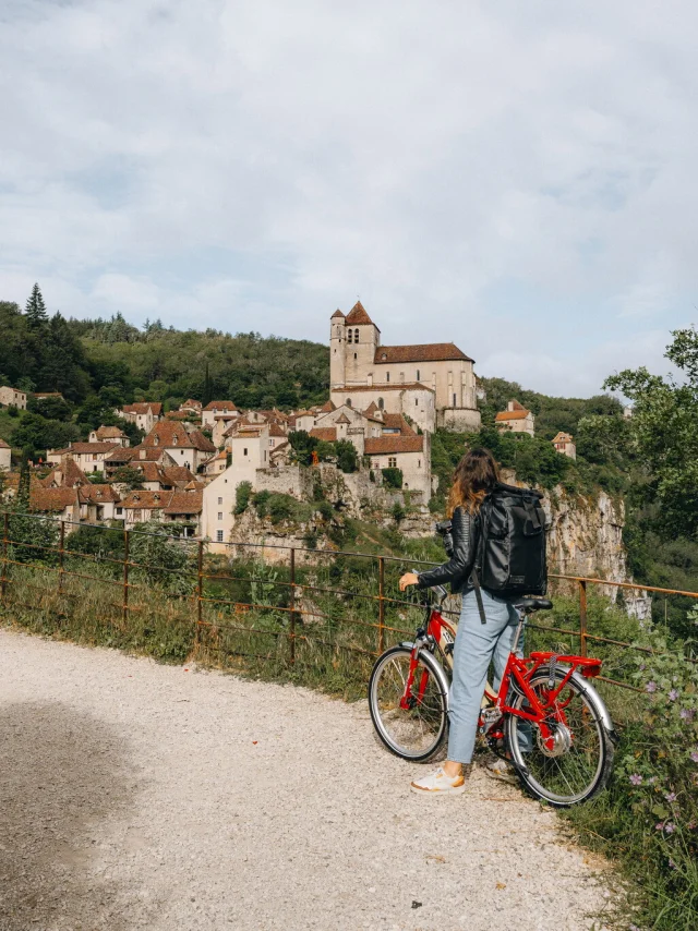
[[[411,784],[411,789],[422,795],[460,795],[466,790],[464,766],[469,767],[472,761],[488,669],[494,660],[497,689],[518,624],[518,614],[509,601],[481,589],[486,618],[486,624],[482,624],[470,581],[480,534],[478,512],[497,482],[497,467],[491,452],[486,449],[467,452],[456,467],[448,496],[452,558],[429,572],[406,572],[400,579],[402,592],[409,585],[426,589],[450,582],[454,593],[462,593],[448,711],[448,759],[435,773]],[[495,764],[493,775],[506,777],[505,771],[506,763]]]

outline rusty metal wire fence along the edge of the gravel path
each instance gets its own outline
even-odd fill
[[[129,644],[135,638],[139,645],[148,637],[161,637],[166,655],[174,632],[173,656],[179,655],[177,649],[182,657],[196,649],[215,651],[218,660],[273,662],[286,668],[325,664],[328,669],[335,665],[333,657],[349,656],[359,661],[358,678],[387,645],[411,637],[421,619],[422,608],[413,598],[396,596],[399,575],[433,565],[266,543],[215,544],[224,548],[221,555],[212,553],[206,541],[167,535],[166,525],[153,533],[8,511],[0,520],[4,608],[28,613],[49,627],[79,622],[94,641]],[[339,587],[345,579],[351,588]],[[590,590],[698,598],[698,592],[605,579],[553,573],[550,580],[553,589],[576,592],[578,626],[557,627],[543,616],[529,627],[543,642],[567,638],[568,649],[574,644],[582,656],[590,644],[602,653],[651,652],[590,629]],[[617,678],[602,680],[637,690]]]

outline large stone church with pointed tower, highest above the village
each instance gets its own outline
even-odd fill
[[[474,363],[455,343],[382,346],[381,330],[359,301],[347,316],[341,311],[333,314],[329,351],[333,401],[337,402],[337,397],[344,395],[345,402],[353,402],[353,389],[357,387],[398,386],[398,391],[406,391],[408,386],[412,391],[429,389],[429,396],[392,396],[392,412],[408,414],[422,430],[430,432],[434,425],[479,430]],[[381,396],[378,392],[371,400],[377,402]],[[400,404],[399,409],[396,402]]]

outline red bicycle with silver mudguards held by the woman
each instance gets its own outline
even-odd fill
[[[438,587],[441,601],[446,591]],[[444,748],[456,628],[424,603],[414,640],[386,650],[369,682],[371,717],[383,743],[405,760],[426,762]],[[516,770],[524,787],[556,808],[587,801],[607,783],[616,735],[589,679],[601,660],[518,653],[528,617],[550,610],[544,598],[519,598],[512,653],[498,693],[483,698],[480,733],[490,749]]]

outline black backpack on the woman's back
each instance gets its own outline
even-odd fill
[[[547,589],[543,495],[497,484],[478,513],[472,582],[498,597],[544,595]],[[480,602],[480,597],[478,597]]]

